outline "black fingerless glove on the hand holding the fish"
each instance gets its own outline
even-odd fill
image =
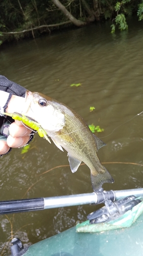
[[[5,76],[0,75],[0,91],[12,93],[20,97],[25,97],[26,89],[22,86],[19,86],[19,84],[8,80]],[[0,140],[7,140],[7,137],[9,136],[9,126],[12,122],[14,122],[14,120],[11,117],[0,116]],[[33,140],[33,137],[34,133],[32,132],[28,143]],[[9,152],[11,151],[11,149],[12,148],[10,148]],[[6,154],[8,154],[9,152],[7,152]]]

